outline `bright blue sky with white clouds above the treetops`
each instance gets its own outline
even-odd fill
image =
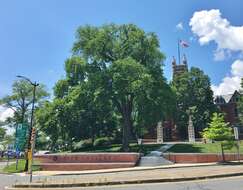
[[[210,12],[213,9],[218,12]],[[184,51],[189,66],[204,70],[214,90],[226,93],[243,75],[243,48],[238,43],[243,39],[242,10],[241,0],[2,0],[0,97],[11,92],[16,75],[44,83],[51,92],[65,75],[64,61],[70,56],[77,27],[107,23],[134,23],[146,32],[155,32],[167,57],[164,73],[168,80],[172,56],[177,56],[177,38],[188,41],[190,47]],[[201,12],[201,17],[195,16],[190,26],[195,12]],[[211,20],[198,26],[198,20],[206,17]],[[182,27],[176,27],[178,24]],[[236,39],[231,40],[227,35],[232,37],[234,31]]]

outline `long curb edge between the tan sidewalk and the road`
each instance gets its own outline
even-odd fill
[[[125,184],[143,184],[143,183],[165,183],[165,182],[182,182],[182,181],[193,181],[202,179],[213,179],[223,177],[235,177],[243,176],[243,172],[230,173],[230,174],[217,174],[212,176],[198,176],[198,177],[186,177],[186,178],[164,178],[164,179],[144,179],[134,181],[110,181],[110,182],[90,182],[90,183],[75,183],[75,184],[44,184],[44,183],[32,183],[32,184],[16,184],[13,188],[7,189],[18,189],[18,188],[69,188],[69,187],[91,187],[91,186],[105,186],[105,185],[125,185]]]

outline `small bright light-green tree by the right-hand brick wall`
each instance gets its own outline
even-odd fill
[[[225,162],[224,149],[231,149],[234,146],[234,138],[232,128],[224,121],[223,114],[213,114],[209,127],[203,130],[203,137],[220,142],[222,159]]]

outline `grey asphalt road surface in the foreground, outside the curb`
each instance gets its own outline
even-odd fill
[[[36,180],[38,178],[35,178]],[[0,174],[0,189],[16,181],[28,181],[28,176],[3,175]],[[174,182],[174,183],[153,183],[136,185],[117,185],[84,188],[65,188],[65,190],[242,190],[243,176],[230,177],[200,181]],[[55,189],[56,190],[56,189]],[[64,190],[64,189],[62,189]]]

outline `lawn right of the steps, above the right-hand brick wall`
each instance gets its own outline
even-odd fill
[[[172,153],[220,153],[221,147],[219,143],[207,144],[176,144],[171,147],[167,152]],[[231,150],[225,150],[226,153],[236,153],[236,147]],[[243,153],[243,141],[240,143],[240,153]]]

